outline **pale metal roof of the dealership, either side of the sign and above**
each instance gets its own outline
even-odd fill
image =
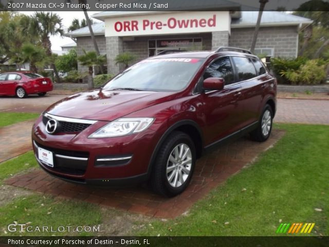
[[[177,1],[180,2],[180,1]],[[184,2],[184,1],[183,1]],[[105,15],[110,16],[119,16],[119,15],[140,15],[140,14],[160,14],[162,12],[143,12],[143,11],[121,11],[121,12],[109,12],[104,11],[93,15],[93,17],[98,17],[99,19],[105,18]],[[101,16],[101,17],[100,17]],[[242,28],[242,27],[254,27],[257,23],[258,11],[242,11],[240,19],[232,19],[231,28]],[[277,11],[264,11],[262,15],[261,26],[305,26],[311,24],[313,21],[304,17],[296,16],[293,14],[288,14],[284,12]],[[95,35],[104,35],[105,34],[105,24],[104,22],[99,22],[92,25]],[[81,37],[81,36],[90,36],[88,27],[83,27],[72,32],[65,34],[67,37]]]

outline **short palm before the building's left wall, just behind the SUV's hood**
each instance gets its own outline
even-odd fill
[[[78,57],[79,62],[83,66],[88,67],[88,74],[90,79],[88,80],[88,88],[92,89],[94,87],[94,66],[103,66],[106,63],[105,55],[97,55],[96,51],[85,51],[83,50],[84,55]]]

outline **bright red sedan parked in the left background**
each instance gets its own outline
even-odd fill
[[[52,91],[53,85],[49,78],[31,72],[8,72],[0,74],[0,95],[24,98],[29,94],[45,96]]]

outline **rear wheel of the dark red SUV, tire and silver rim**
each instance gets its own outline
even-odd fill
[[[273,111],[270,105],[266,104],[261,114],[257,129],[250,132],[251,139],[256,140],[257,142],[265,142],[271,134],[272,123]]]

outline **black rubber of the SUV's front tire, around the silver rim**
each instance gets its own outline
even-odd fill
[[[169,155],[173,151],[174,147],[176,147],[178,144],[181,144],[181,143],[184,143],[189,146],[191,153],[192,153],[192,164],[191,164],[191,170],[189,173],[189,177],[187,178],[185,183],[182,184],[181,186],[175,188],[170,185],[170,183],[167,179],[167,162],[169,159]],[[184,191],[187,188],[187,186],[189,185],[189,183],[191,181],[192,175],[193,175],[193,171],[194,171],[194,167],[195,167],[195,160],[196,160],[195,147],[194,147],[194,144],[193,144],[191,138],[186,134],[178,135],[176,140],[174,140],[172,142],[170,148],[166,150],[165,156],[163,156],[162,166],[161,166],[162,183],[165,185],[165,188],[168,191],[169,196],[178,195],[179,193],[181,193],[182,191]]]

